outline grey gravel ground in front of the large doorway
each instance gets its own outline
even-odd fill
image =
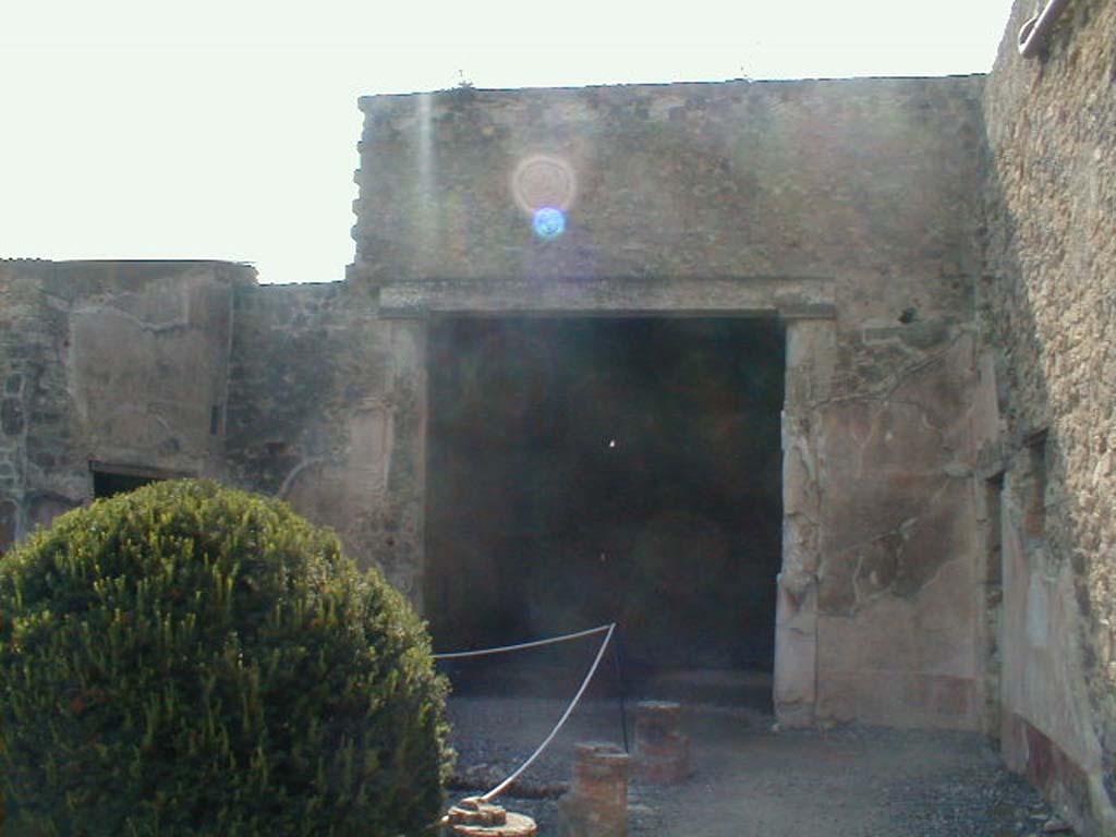
[[[459,752],[451,800],[483,792],[546,737],[565,702],[538,698],[451,700]],[[687,708],[696,772],[671,788],[633,783],[633,837],[1030,837],[1072,835],[1039,796],[1006,772],[983,738],[953,732],[845,728],[777,731],[769,715]],[[631,713],[628,729],[631,730]],[[560,834],[557,795],[574,745],[623,742],[614,701],[584,703],[519,787],[510,810]],[[539,798],[541,797],[541,798]]]

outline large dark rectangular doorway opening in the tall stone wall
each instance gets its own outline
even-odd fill
[[[642,670],[770,671],[783,352],[767,319],[433,321],[435,646],[616,620]]]

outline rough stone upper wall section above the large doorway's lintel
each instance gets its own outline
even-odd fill
[[[972,249],[982,83],[364,97],[350,277],[937,276]]]

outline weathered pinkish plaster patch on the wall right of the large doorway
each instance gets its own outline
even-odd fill
[[[820,720],[980,724],[972,340],[817,408]]]

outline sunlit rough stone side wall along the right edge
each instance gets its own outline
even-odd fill
[[[1112,834],[1116,3],[1070,3],[1045,54],[1023,60],[1016,33],[1032,7],[1016,3],[984,98],[978,439],[983,474],[1004,474],[1003,748],[1084,833]]]

